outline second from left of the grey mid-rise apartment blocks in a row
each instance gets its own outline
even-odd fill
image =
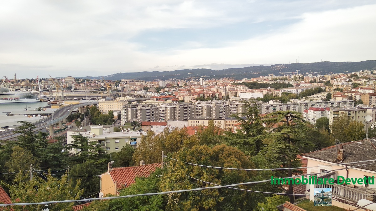
[[[195,106],[192,103],[163,103],[159,105],[159,121],[187,120],[194,118]]]

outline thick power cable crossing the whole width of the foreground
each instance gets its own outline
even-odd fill
[[[358,165],[358,166],[364,166],[364,165],[369,165],[369,164],[372,164],[372,163],[361,164],[361,165]],[[356,167],[356,166],[347,167],[347,168],[343,168],[343,169],[352,169],[354,167]],[[343,170],[343,169],[328,170],[327,172],[337,171],[337,170]],[[279,178],[279,179],[296,178],[296,177],[300,177],[300,176],[315,175],[315,174],[316,173],[310,173],[310,174],[305,174],[305,175],[291,176],[291,177],[285,177],[285,178]],[[242,183],[236,183],[236,184],[230,184],[230,185],[218,185],[218,186],[194,188],[194,189],[171,190],[171,191],[164,191],[164,192],[159,192],[159,193],[143,193],[143,194],[133,194],[133,195],[127,195],[127,196],[110,196],[110,197],[102,197],[102,198],[76,199],[76,200],[59,200],[59,201],[49,201],[49,202],[9,203],[9,204],[0,204],[0,206],[37,205],[37,204],[50,204],[50,203],[68,203],[68,202],[83,202],[83,201],[93,201],[93,200],[102,200],[102,199],[129,198],[129,197],[135,197],[135,196],[154,196],[154,195],[160,195],[160,194],[180,193],[180,192],[189,192],[189,191],[197,191],[197,190],[206,190],[206,189],[233,187],[233,186],[246,185],[246,184],[256,184],[256,183],[269,182],[269,181],[271,181],[271,179],[265,179],[265,180],[261,180],[261,181],[252,181],[252,182],[242,182]],[[363,194],[363,195],[366,195],[366,194]],[[369,195],[374,195],[374,194],[369,194]]]

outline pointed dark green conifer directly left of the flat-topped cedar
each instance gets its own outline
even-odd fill
[[[254,102],[244,101],[246,113],[237,113],[231,117],[237,119],[241,125],[239,129],[224,131],[224,140],[229,146],[236,147],[246,155],[256,155],[264,146],[262,140],[265,136],[265,129],[260,121],[258,105]],[[247,118],[243,119],[240,116]]]

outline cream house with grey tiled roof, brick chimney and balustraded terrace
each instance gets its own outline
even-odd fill
[[[338,176],[347,178],[376,177],[376,164],[367,160],[376,159],[376,139],[365,139],[359,142],[348,142],[337,146],[330,146],[319,151],[303,154],[307,158],[307,173],[316,174],[317,178],[335,180],[334,184],[307,184],[306,197],[314,200],[314,188],[332,188],[332,205],[347,210],[359,208],[361,199],[375,201],[376,185],[362,182],[362,184],[338,184]],[[358,162],[358,163],[352,163]],[[344,163],[344,164],[341,164]],[[352,163],[352,164],[345,164]],[[361,165],[361,166],[359,166]],[[347,169],[346,169],[347,168]],[[342,178],[339,178],[340,181]],[[343,180],[342,180],[343,181]],[[364,210],[364,209],[357,209]]]

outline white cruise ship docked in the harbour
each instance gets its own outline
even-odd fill
[[[0,92],[0,103],[8,102],[40,102],[37,94],[33,92]]]

